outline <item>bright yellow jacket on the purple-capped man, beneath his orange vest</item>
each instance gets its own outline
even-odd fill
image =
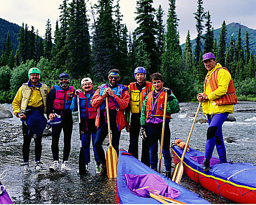
[[[206,75],[207,83],[206,87],[204,87],[205,93],[208,95],[207,101],[202,103],[202,109],[204,115],[206,114],[220,114],[223,112],[234,112],[234,105],[216,105],[215,100],[217,98],[220,98],[221,95],[224,95],[227,93],[228,90],[228,84],[230,83],[231,80],[231,75],[230,73],[225,70],[225,69],[220,69],[218,71],[218,88],[215,91],[211,91],[210,84],[208,82],[209,78],[211,77],[211,74],[218,69],[221,68],[221,64],[217,63],[214,69],[208,71]]]

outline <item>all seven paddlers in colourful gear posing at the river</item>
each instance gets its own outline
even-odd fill
[[[206,54],[205,54],[206,55]],[[221,97],[232,93],[229,84],[232,78],[227,69],[221,69],[216,64],[214,56],[203,56],[203,62],[208,70],[204,93],[197,95],[198,101],[203,102],[203,112],[207,114],[209,128],[207,131],[207,154],[204,160],[204,170],[210,169],[210,158],[214,146],[221,156],[221,163],[227,162],[221,126],[228,113],[233,112],[234,105],[217,103],[225,102],[228,97]],[[213,54],[212,54],[213,55]],[[212,62],[213,61],[213,62]],[[216,73],[217,72],[217,73]],[[214,74],[214,75],[213,75]],[[229,75],[229,76],[228,76]],[[211,79],[214,76],[214,79]],[[119,84],[121,73],[112,69],[108,73],[109,82],[93,90],[93,82],[89,77],[81,80],[82,89],[75,90],[69,85],[70,78],[66,73],[59,75],[59,85],[50,91],[45,83],[40,81],[41,72],[33,67],[28,72],[28,83],[24,83],[18,90],[12,107],[16,117],[21,118],[23,131],[23,173],[29,173],[29,146],[31,139],[35,141],[35,170],[45,168],[41,162],[42,134],[48,123],[52,127],[52,156],[53,163],[49,170],[71,170],[68,162],[71,136],[73,129],[72,111],[79,113],[79,175],[86,173],[90,162],[90,142],[96,161],[96,173],[106,176],[106,158],[103,141],[108,134],[106,98],[109,99],[109,119],[112,132],[113,148],[119,151],[119,141],[122,129],[130,134],[128,152],[139,158],[139,136],[142,140],[141,160],[151,169],[157,170],[158,141],[161,141],[164,108],[166,107],[166,126],[164,129],[163,156],[166,176],[171,177],[170,155],[170,127],[171,114],[180,111],[180,106],[170,88],[164,87],[164,80],[160,73],[150,76],[146,81],[146,70],[137,67],[134,70],[135,82],[129,86]],[[214,84],[214,90],[211,84]],[[233,83],[233,81],[232,81]],[[216,86],[217,84],[217,86]],[[217,88],[216,88],[217,87]],[[233,86],[234,87],[234,86]],[[167,104],[164,105],[167,95]],[[223,98],[223,99],[221,99]],[[229,98],[228,98],[229,99]],[[213,101],[215,106],[213,105]],[[214,108],[213,108],[214,106]],[[233,106],[233,107],[232,107]],[[212,109],[213,108],[213,109]],[[213,112],[214,111],[214,112]],[[131,113],[131,114],[130,114]],[[47,119],[45,118],[45,114]],[[59,162],[59,139],[63,130],[63,160]]]

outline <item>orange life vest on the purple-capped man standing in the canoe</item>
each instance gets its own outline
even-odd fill
[[[211,77],[209,78],[209,83],[211,87],[211,91],[214,91],[218,88],[218,71],[220,69],[226,69],[225,67],[221,67],[219,69],[216,69],[212,74]],[[229,72],[229,71],[228,71]],[[204,92],[206,92],[206,84],[207,84],[207,78],[204,80]],[[222,95],[220,98],[215,100],[216,105],[235,105],[237,104],[237,94],[235,94],[235,87],[233,83],[233,79],[231,77],[230,83],[228,84],[228,90],[225,95]]]

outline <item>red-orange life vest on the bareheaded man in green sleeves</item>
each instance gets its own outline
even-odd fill
[[[161,93],[159,94],[155,114],[151,114],[152,101],[153,101],[153,91],[151,91],[147,95],[147,104],[146,104],[146,118],[147,119],[151,118],[151,117],[163,117],[164,116],[164,97],[165,97],[165,95],[166,95],[166,92],[164,92],[164,91],[161,91]],[[166,112],[166,118],[171,119],[170,112]]]

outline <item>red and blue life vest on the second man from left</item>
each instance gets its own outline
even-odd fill
[[[68,110],[72,102],[74,94],[73,86],[69,86],[67,91],[62,90],[59,86],[54,86],[56,90],[55,100],[53,101],[53,109],[55,110]]]

